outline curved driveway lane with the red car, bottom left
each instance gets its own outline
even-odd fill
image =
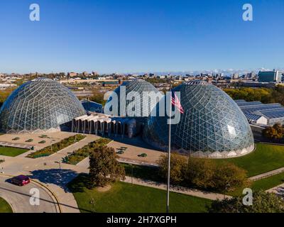
[[[30,190],[36,188],[40,192],[40,204],[32,206]],[[0,176],[0,197],[5,199],[15,213],[57,213],[57,204],[39,184],[31,182],[19,187],[9,182],[9,177]]]

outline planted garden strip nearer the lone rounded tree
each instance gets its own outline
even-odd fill
[[[67,155],[63,158],[62,162],[71,164],[71,165],[77,165],[77,163],[84,160],[86,157],[89,157],[89,151],[93,148],[104,146],[110,143],[111,140],[108,138],[99,138],[95,140],[92,143],[89,143],[88,145],[85,145],[83,148],[80,148],[79,150],[75,150],[70,155]]]

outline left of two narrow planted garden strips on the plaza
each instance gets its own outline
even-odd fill
[[[38,158],[38,157],[45,157],[45,156],[49,156],[52,155],[53,153],[57,153],[59,150],[62,150],[64,148],[69,147],[70,145],[82,140],[86,138],[86,135],[72,135],[69,138],[65,138],[63,140],[61,140],[58,143],[55,143],[53,145],[50,145],[46,148],[43,148],[41,150],[35,151],[34,153],[31,153],[29,155],[27,155],[27,157],[31,157],[31,158]]]

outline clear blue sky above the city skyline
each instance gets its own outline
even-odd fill
[[[0,72],[283,68],[283,12],[283,0],[1,0]]]

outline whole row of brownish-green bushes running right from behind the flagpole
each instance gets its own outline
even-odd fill
[[[246,171],[229,162],[217,164],[209,159],[187,158],[178,153],[173,153],[170,160],[170,181],[173,184],[213,189],[217,192],[227,192],[249,184]],[[158,165],[160,176],[166,179],[168,155],[162,155]]]

